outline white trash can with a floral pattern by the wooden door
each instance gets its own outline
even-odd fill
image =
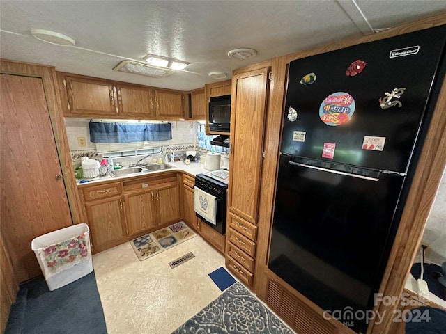
[[[93,271],[90,229],[85,223],[49,232],[31,241],[49,291]]]

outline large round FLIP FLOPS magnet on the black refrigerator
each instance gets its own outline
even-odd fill
[[[325,97],[319,106],[319,117],[330,127],[337,127],[347,122],[355,112],[355,99],[344,92],[337,92]]]

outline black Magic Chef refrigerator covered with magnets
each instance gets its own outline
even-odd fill
[[[289,65],[268,267],[357,333],[443,82],[445,40],[438,26]]]

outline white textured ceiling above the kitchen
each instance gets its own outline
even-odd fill
[[[1,58],[53,65],[56,70],[148,86],[192,90],[231,71],[346,37],[367,35],[446,10],[445,0],[294,1],[0,1]],[[73,47],[31,36],[47,29]],[[230,59],[230,49],[258,54]],[[113,71],[146,54],[190,63],[169,77]]]

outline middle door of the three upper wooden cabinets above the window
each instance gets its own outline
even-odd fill
[[[119,116],[135,118],[155,117],[153,109],[153,89],[116,85]]]

